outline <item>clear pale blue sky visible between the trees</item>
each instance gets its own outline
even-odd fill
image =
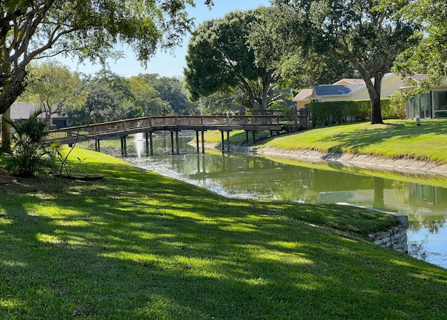
[[[234,10],[247,10],[257,8],[258,6],[270,6],[269,0],[214,0],[214,6],[211,10],[203,4],[202,0],[196,0],[196,8],[190,8],[188,11],[191,17],[196,18],[196,26],[205,20],[223,17],[226,13]],[[142,68],[140,62],[135,59],[131,49],[125,49],[126,58],[115,61],[108,61],[110,69],[124,77],[138,75],[138,73],[158,73],[166,77],[182,77],[183,68],[186,65],[186,47],[189,36],[186,36],[181,47],[177,47],[173,54],[166,52],[157,52],[156,55],[147,64],[147,69]],[[78,65],[77,61],[58,58],[61,63],[66,64],[73,71],[81,73],[96,73],[101,66],[92,66],[89,63]]]

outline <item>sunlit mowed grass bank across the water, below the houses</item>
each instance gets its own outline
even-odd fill
[[[447,162],[447,120],[388,120],[383,125],[353,123],[275,137],[260,146],[310,149]]]

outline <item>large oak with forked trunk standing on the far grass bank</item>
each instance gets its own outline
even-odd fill
[[[408,1],[378,7],[379,0],[273,0],[283,16],[284,41],[309,52],[349,61],[365,80],[371,123],[383,123],[381,84],[417,24],[395,15]],[[307,53],[307,50],[304,51]]]

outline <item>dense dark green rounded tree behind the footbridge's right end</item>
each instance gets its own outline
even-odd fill
[[[192,100],[237,88],[251,109],[267,109],[269,93],[279,80],[272,61],[275,55],[264,52],[257,58],[256,48],[249,44],[250,35],[259,34],[259,26],[266,24],[266,10],[228,13],[222,19],[204,22],[193,32],[184,70]]]

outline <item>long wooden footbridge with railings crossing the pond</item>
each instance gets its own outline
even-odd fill
[[[270,130],[270,132],[281,132],[286,128],[295,127],[309,128],[308,116],[297,116],[296,119],[285,119],[279,115],[253,115],[253,116],[154,116],[121,121],[111,121],[104,123],[94,123],[90,125],[79,125],[71,128],[61,128],[51,130],[50,137],[61,144],[72,145],[76,142],[95,140],[96,151],[101,151],[100,141],[112,137],[121,138],[122,155],[126,155],[126,137],[139,132],[146,134],[147,154],[153,155],[152,133],[155,131],[169,131],[171,137],[172,153],[175,144],[177,154],[179,153],[179,131],[196,131],[197,152],[199,153],[199,132],[201,132],[202,152],[205,153],[204,132],[207,130],[220,130],[222,139],[222,151],[230,150],[230,131],[245,130],[247,143],[249,142],[249,132],[253,140],[255,132],[259,130]],[[223,132],[226,132],[227,143],[225,144]]]

